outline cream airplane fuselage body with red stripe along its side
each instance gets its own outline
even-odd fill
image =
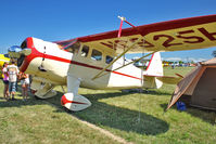
[[[124,60],[115,62],[100,78],[92,78],[100,73],[105,63],[105,52],[102,52],[102,60],[96,61],[91,58],[92,49],[90,48],[87,56],[81,56],[81,47],[77,54],[67,52],[59,48],[56,43],[46,42],[40,39],[33,38],[35,49],[31,54],[26,73],[54,84],[66,84],[67,75],[81,79],[81,87],[91,89],[128,89],[141,88],[143,71],[134,65],[128,65],[115,71],[113,70],[124,65]],[[100,50],[99,50],[100,51]],[[24,65],[24,64],[23,64]],[[22,65],[22,66],[23,66]],[[46,71],[39,70],[42,66]]]

